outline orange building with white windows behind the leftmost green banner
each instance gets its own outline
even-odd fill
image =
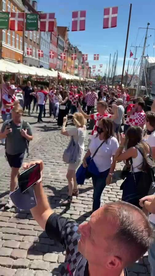
[[[2,11],[24,12],[22,0],[2,0]],[[0,58],[23,63],[23,32],[0,30]]]

